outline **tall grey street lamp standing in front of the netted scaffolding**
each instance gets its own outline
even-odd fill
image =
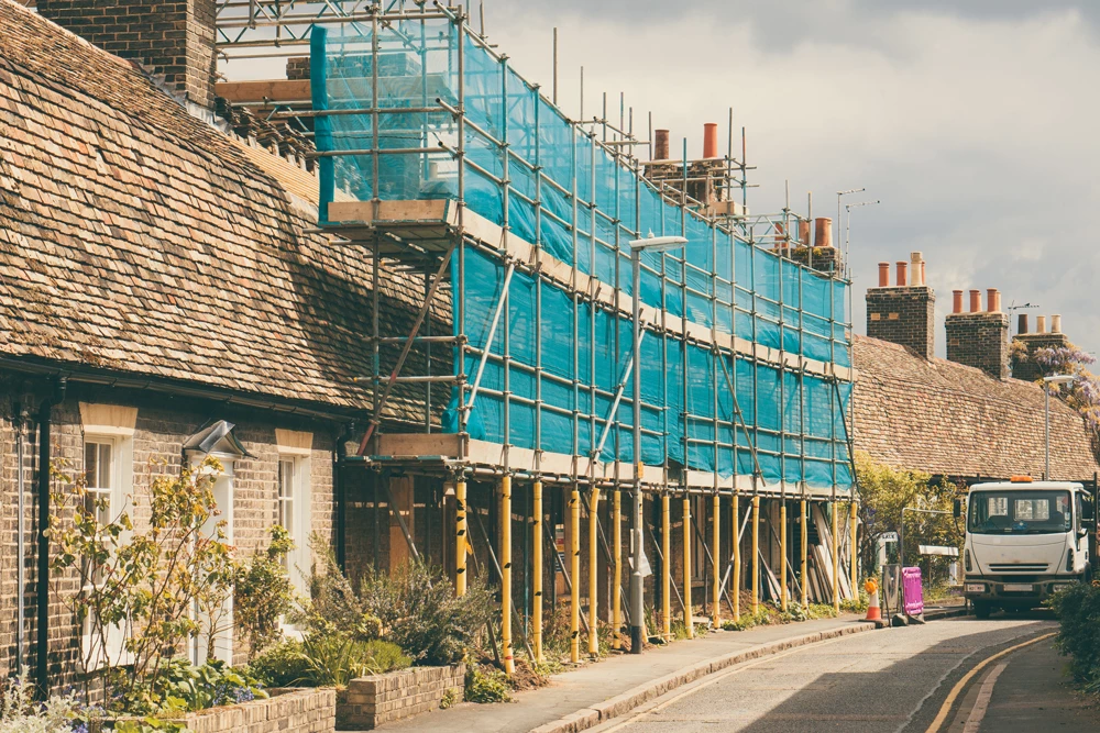
[[[630,241],[634,296],[634,511],[630,517],[630,654],[641,654],[641,624],[646,618],[641,575],[641,253],[680,249],[682,236],[652,236]],[[575,582],[575,581],[574,581]]]

